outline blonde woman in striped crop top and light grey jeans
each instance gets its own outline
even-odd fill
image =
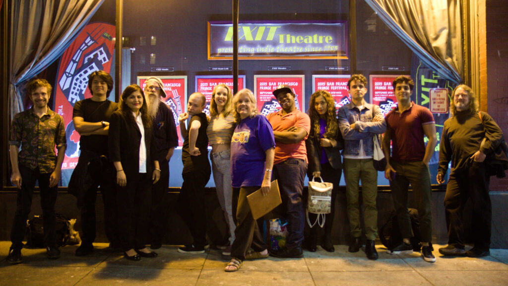
[[[213,180],[219,199],[220,208],[229,227],[230,239],[219,248],[224,249],[224,255],[230,255],[231,244],[235,240],[235,222],[232,211],[231,188],[231,137],[235,130],[233,116],[233,94],[226,84],[218,84],[213,89],[210,102],[210,123],[206,129],[212,152]]]

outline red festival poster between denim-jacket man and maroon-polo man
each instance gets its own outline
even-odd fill
[[[393,92],[392,82],[398,75],[370,75],[370,103],[381,108],[383,115],[397,107],[397,98]]]

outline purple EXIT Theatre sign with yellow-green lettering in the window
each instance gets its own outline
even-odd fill
[[[346,21],[238,23],[238,57],[243,60],[348,59]],[[233,59],[233,24],[208,22],[208,60]]]

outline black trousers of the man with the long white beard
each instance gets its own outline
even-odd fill
[[[161,178],[155,185],[152,185],[152,199],[150,207],[150,228],[148,242],[150,244],[161,244],[166,234],[167,205],[164,199],[169,187],[169,164],[164,160],[160,162]]]

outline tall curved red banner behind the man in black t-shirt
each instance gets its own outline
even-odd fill
[[[74,129],[72,110],[76,102],[91,97],[88,75],[98,70],[110,72],[114,64],[114,36],[114,25],[87,24],[61,56],[54,89],[55,111],[66,124],[67,149],[62,169],[74,169],[78,163],[80,136]],[[111,97],[114,100],[113,94]]]

